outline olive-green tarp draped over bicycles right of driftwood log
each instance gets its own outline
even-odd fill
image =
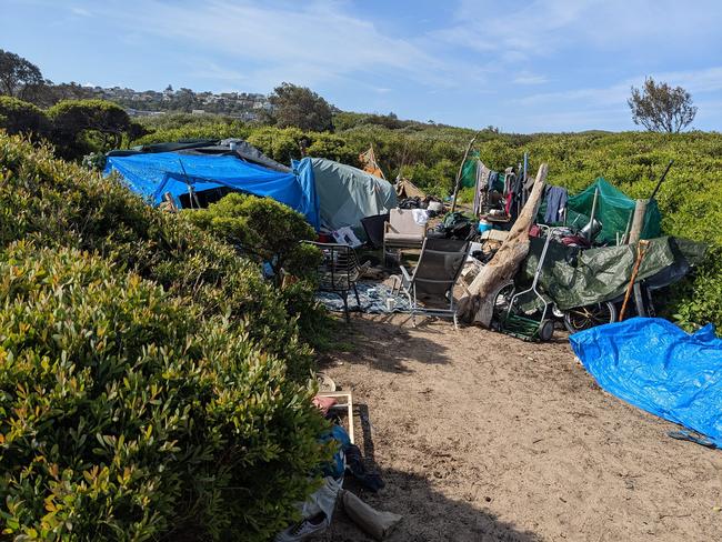
[[[517,280],[531,282],[544,241],[532,238],[530,253]],[[670,284],[702,260],[705,245],[684,239],[662,237],[650,240],[638,280],[653,285]],[[636,245],[603,247],[579,252],[552,241],[540,277],[540,290],[561,310],[611,301],[624,294],[636,259]]]

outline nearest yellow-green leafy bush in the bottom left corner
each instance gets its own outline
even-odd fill
[[[311,390],[223,318],[70,249],[0,252],[0,516],[17,540],[268,540],[313,488]]]

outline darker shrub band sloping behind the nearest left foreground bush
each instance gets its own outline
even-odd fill
[[[0,136],[0,245],[28,239],[100,254],[198,303],[205,315],[227,315],[239,333],[283,359],[294,378],[309,377],[313,338],[300,337],[298,323],[307,314],[291,314],[258,263],[239,258],[184,213],[160,212],[120,182],[19,138]]]

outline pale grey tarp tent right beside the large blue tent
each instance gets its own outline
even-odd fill
[[[361,219],[383,214],[397,207],[393,185],[365,171],[323,158],[305,158],[294,168],[310,161],[319,197],[321,223],[331,230],[359,225]]]

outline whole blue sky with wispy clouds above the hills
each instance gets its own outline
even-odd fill
[[[645,76],[722,129],[719,0],[0,0],[0,48],[56,82],[311,87],[345,110],[504,131],[632,130]]]

